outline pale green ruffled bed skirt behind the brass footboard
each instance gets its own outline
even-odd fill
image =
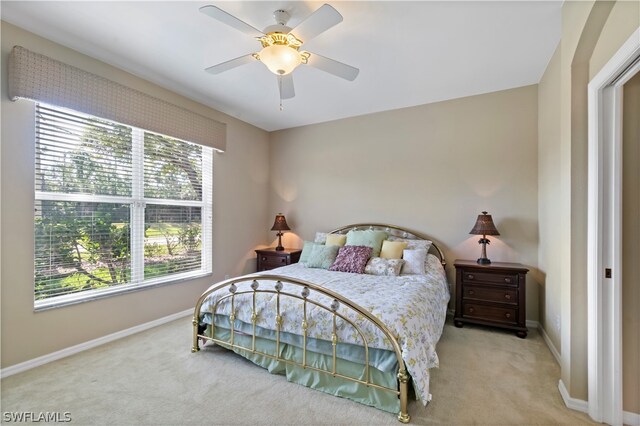
[[[210,326],[207,325],[205,335],[210,336]],[[222,327],[215,328],[215,338],[223,341],[229,341],[231,333],[228,329]],[[234,334],[234,344],[251,348],[252,337],[247,335]],[[256,337],[256,350],[275,356],[276,342]],[[244,349],[233,349],[234,352],[248,359],[256,365],[265,368],[272,374],[282,374],[287,380],[320,390],[335,396],[347,398],[361,404],[376,407],[380,410],[390,413],[398,413],[400,411],[400,399],[398,395],[387,390],[377,389],[361,383],[352,382],[341,377],[333,377],[330,373],[323,373],[305,369],[297,365],[289,364],[283,361],[277,361],[273,358],[254,354]],[[280,343],[280,358],[293,360],[302,364],[302,349]],[[331,371],[333,357],[307,350],[306,364],[315,368],[321,368]],[[365,380],[365,366],[356,362],[337,359],[336,372],[343,376],[353,377],[359,380]],[[396,372],[382,372],[377,368],[369,368],[369,382],[391,389],[397,389]]]

